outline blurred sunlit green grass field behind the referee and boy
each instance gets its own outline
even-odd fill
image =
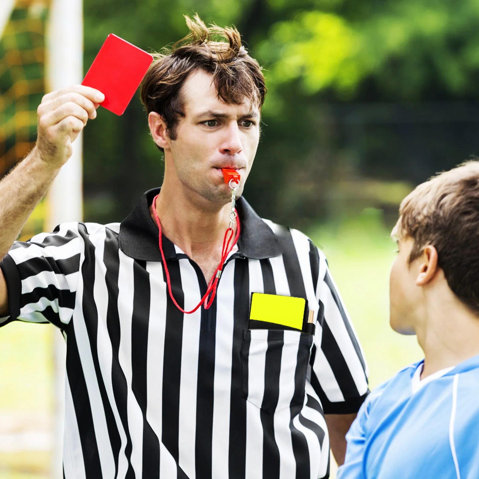
[[[422,357],[415,336],[389,327],[389,269],[395,244],[380,212],[309,232],[326,253],[331,273],[363,345],[370,388]],[[52,328],[14,323],[0,329],[0,412],[48,412],[53,407]],[[0,479],[48,477],[51,456],[0,454]],[[334,477],[334,468],[331,471]]]

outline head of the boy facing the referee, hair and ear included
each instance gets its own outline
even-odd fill
[[[399,207],[393,235],[399,247],[390,278],[393,329],[415,331],[432,287],[448,287],[479,316],[479,161],[417,186]]]

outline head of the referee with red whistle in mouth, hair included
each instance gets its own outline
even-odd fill
[[[150,132],[165,152],[165,182],[209,202],[228,200],[221,168],[241,175],[238,194],[259,142],[266,87],[235,28],[206,27],[186,17],[190,33],[156,55],[141,84]]]

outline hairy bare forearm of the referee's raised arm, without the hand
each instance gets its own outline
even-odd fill
[[[7,254],[25,221],[58,174],[35,147],[0,182],[0,260]]]

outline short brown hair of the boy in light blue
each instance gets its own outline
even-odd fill
[[[414,240],[409,262],[427,245],[454,294],[479,314],[479,161],[467,161],[416,187],[399,207],[395,234]]]

